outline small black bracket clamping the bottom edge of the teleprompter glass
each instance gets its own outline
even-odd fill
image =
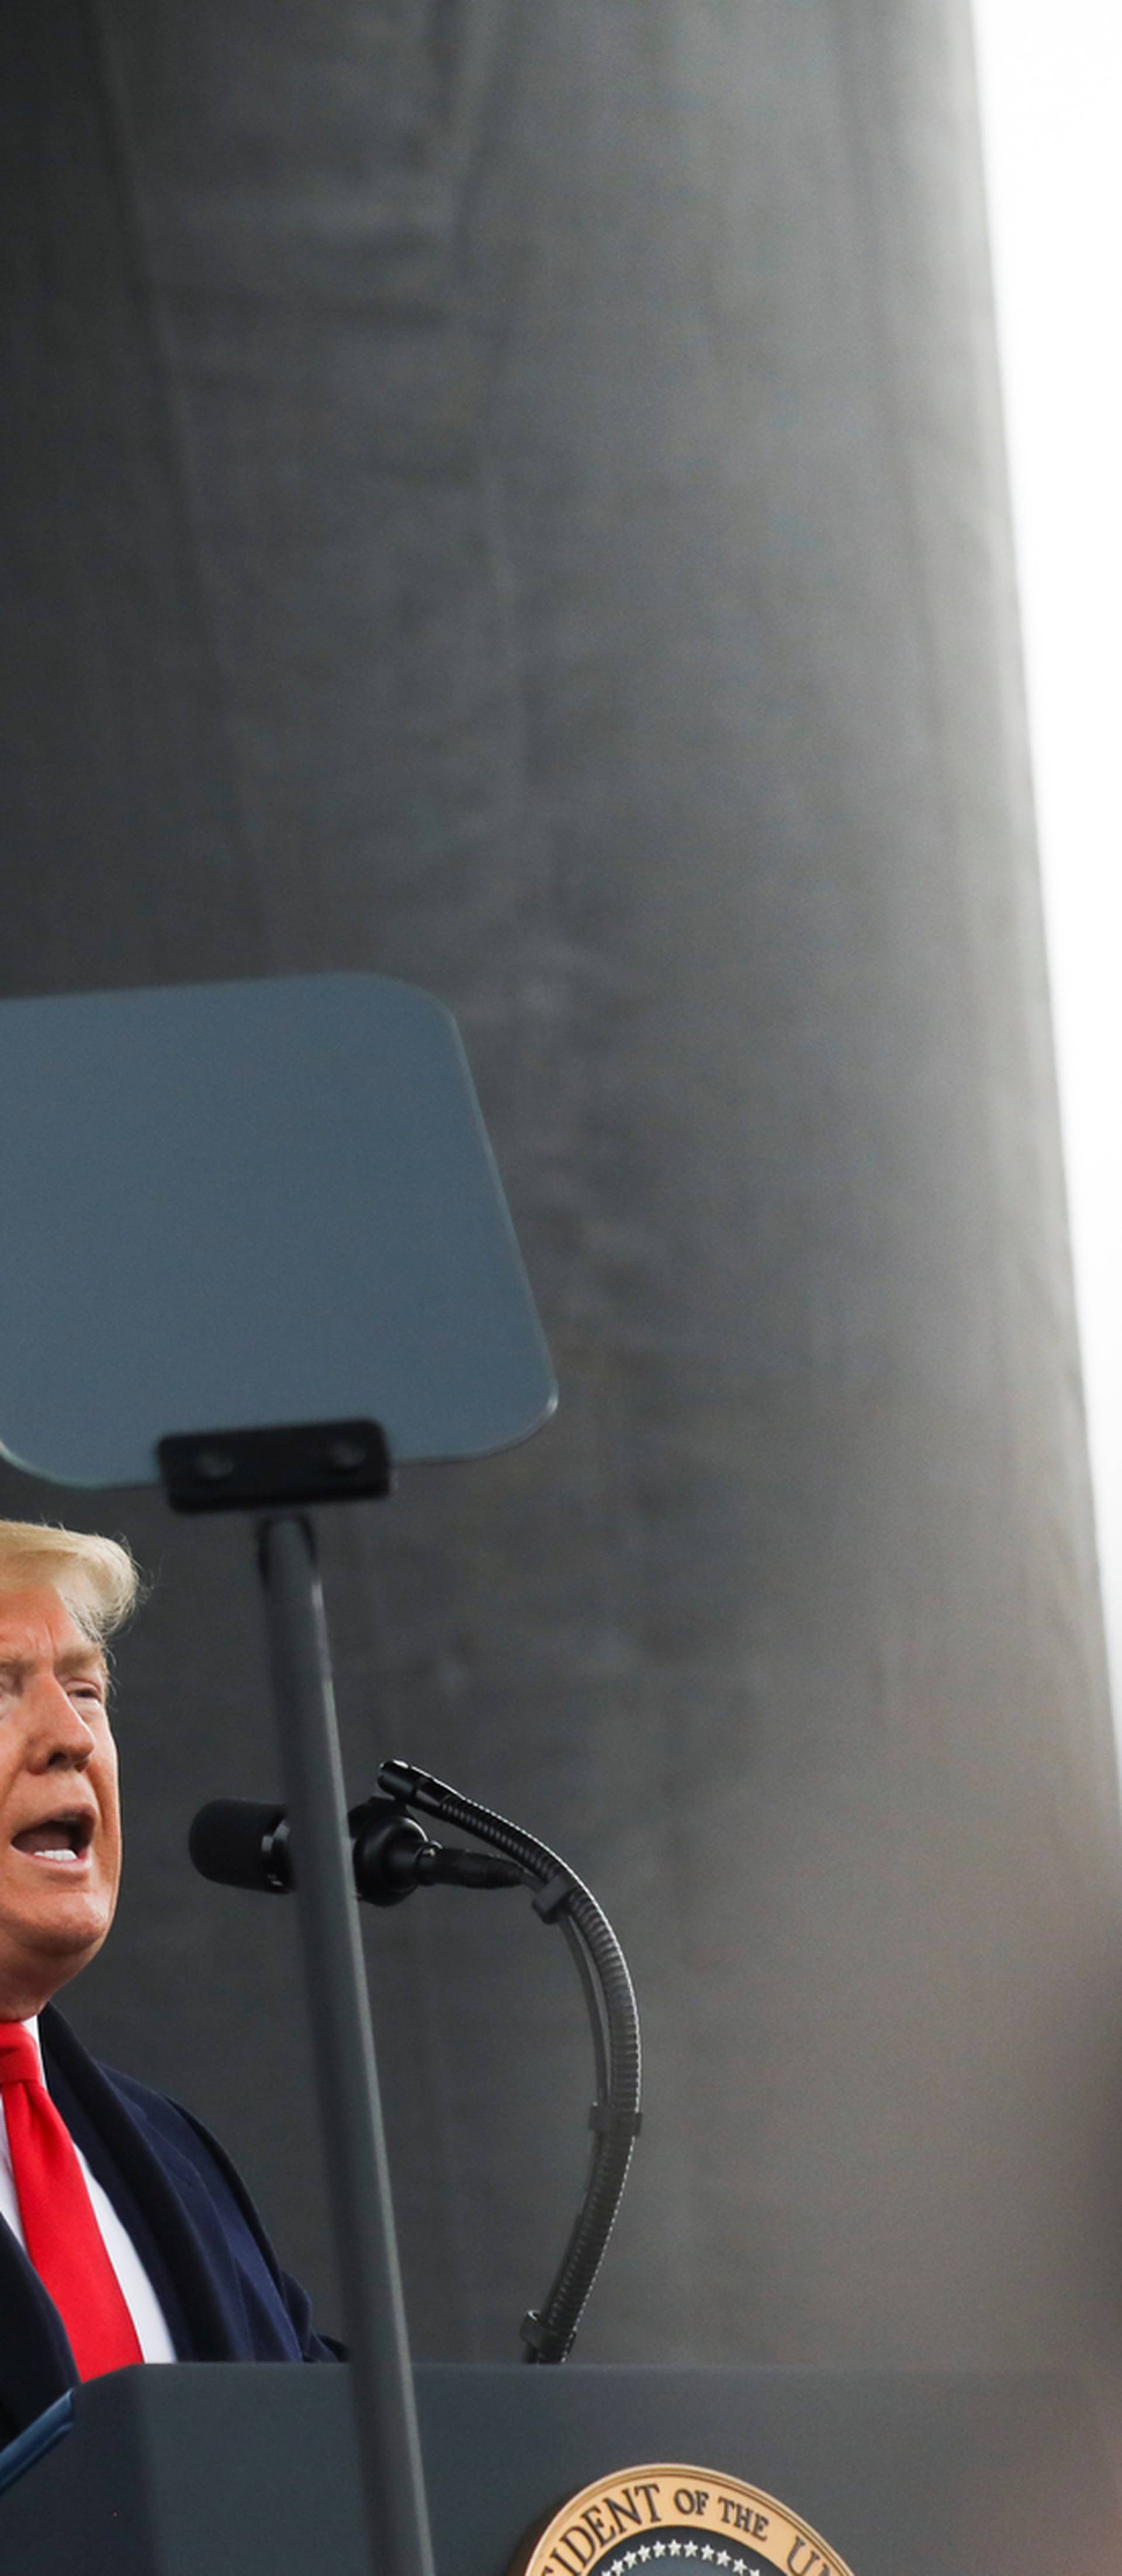
[[[394,1492],[381,1422],[283,1422],[270,1430],[167,1432],[157,1440],[172,1512],[252,1512]]]

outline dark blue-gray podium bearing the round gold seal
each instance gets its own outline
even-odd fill
[[[206,2362],[75,2388],[0,2491],[0,2568],[365,2576],[347,2378]],[[1091,2403],[1063,2375],[419,2365],[417,2414],[437,2576],[507,2576],[556,2504],[651,2460],[751,2481],[852,2576],[1122,2568]],[[651,2555],[636,2576],[692,2576]],[[800,2550],[793,2576],[834,2561]]]

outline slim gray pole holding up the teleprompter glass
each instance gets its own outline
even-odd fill
[[[432,2576],[324,1597],[301,1515],[257,1535],[371,2571]]]

